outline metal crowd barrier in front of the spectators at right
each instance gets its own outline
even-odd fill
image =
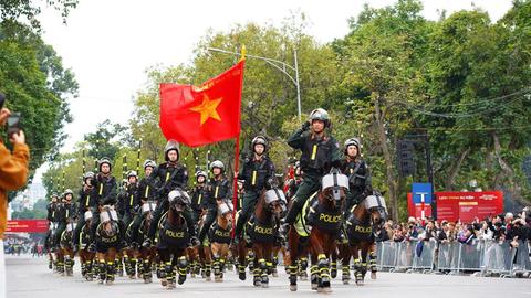
[[[475,240],[470,244],[436,241],[379,242],[377,266],[388,272],[498,275],[531,274],[530,245]]]

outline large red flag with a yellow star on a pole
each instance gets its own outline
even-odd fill
[[[244,60],[199,87],[160,84],[160,120],[166,139],[190,147],[240,134]]]

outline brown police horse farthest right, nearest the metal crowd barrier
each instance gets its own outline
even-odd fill
[[[385,222],[387,209],[385,200],[378,192],[365,198],[351,210],[346,220],[346,234],[351,255],[354,258],[354,277],[356,285],[364,283],[369,259],[371,278],[376,279],[375,227]]]

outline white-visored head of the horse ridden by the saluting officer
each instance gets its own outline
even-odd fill
[[[332,169],[321,180],[319,201],[330,209],[341,207],[348,190],[348,178],[339,170]]]

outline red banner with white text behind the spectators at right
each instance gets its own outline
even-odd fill
[[[469,223],[478,217],[500,214],[503,212],[503,193],[501,191],[482,192],[436,192],[437,220]],[[410,193],[407,194],[409,216],[420,217],[420,204],[414,205]],[[426,206],[426,216],[431,216],[430,206]]]

